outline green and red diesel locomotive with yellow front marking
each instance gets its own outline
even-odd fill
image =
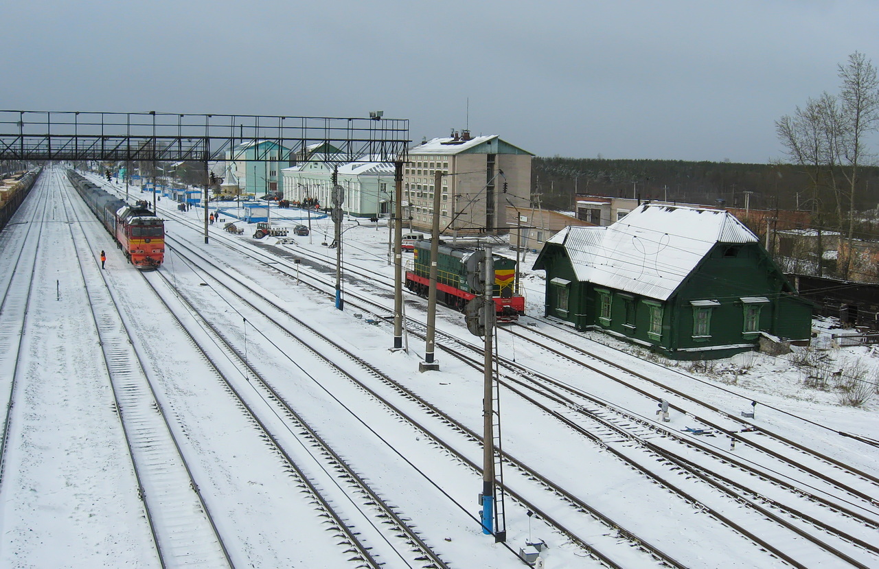
[[[431,241],[415,241],[415,258],[406,270],[406,288],[426,297],[430,286]],[[437,255],[437,300],[446,306],[463,311],[464,306],[477,296],[471,283],[477,278],[481,251],[475,248],[450,247],[440,244]],[[513,322],[525,313],[525,299],[513,296],[513,278],[516,262],[503,256],[493,256],[495,268],[494,301],[498,322]]]

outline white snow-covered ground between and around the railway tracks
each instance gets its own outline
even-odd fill
[[[233,565],[356,566],[349,564],[345,551],[325,529],[309,500],[303,498],[300,488],[266,450],[265,442],[188,345],[171,315],[158,307],[141,276],[125,263],[109,236],[91,219],[84,205],[76,202],[75,192],[65,184],[60,170],[44,173],[18,212],[18,223],[0,234],[0,291],[5,291],[7,284],[11,293],[25,287],[25,281],[31,278],[29,273],[16,273],[14,279],[11,276],[16,266],[28,266],[29,259],[36,259],[35,289],[26,317],[24,342],[17,354],[0,354],[0,393],[16,403],[4,443],[0,478],[0,565],[158,566],[91,317],[90,302],[95,297],[89,289],[103,286],[112,291],[122,308],[123,319],[136,332],[135,349],[146,362],[157,404],[172,417],[171,430],[183,442],[184,453],[192,458],[193,475],[199,480],[200,491],[206,496],[219,532],[228,541]],[[143,195],[137,188],[134,192]],[[176,204],[167,199],[158,205],[173,240],[185,242],[206,258],[222,263],[223,272],[240,275],[253,290],[270,295],[279,306],[323,329],[414,393],[453,414],[469,428],[477,432],[481,429],[481,372],[439,355],[440,371],[418,373],[424,346],[414,337],[408,339],[408,352],[391,352],[389,324],[367,323],[354,316],[357,310],[353,308],[345,312],[335,310],[331,299],[279,277],[269,265],[246,256],[245,248],[254,241],[250,238],[252,227],[233,238],[240,247],[224,244],[229,234],[222,231],[222,223],[233,220],[233,211],[221,212],[222,219],[209,228],[211,239],[205,244],[198,230],[178,221],[203,220],[202,209],[179,212]],[[56,222],[44,222],[38,228],[23,221],[34,208],[45,208],[47,218]],[[271,217],[273,223],[288,227],[308,222],[307,216],[297,210],[272,208]],[[292,242],[279,244],[278,248],[300,251],[303,256],[320,256],[333,263],[335,250],[324,245],[332,239],[331,221],[312,219],[311,224],[311,235],[291,235],[287,241]],[[388,239],[388,228],[382,222],[346,220],[345,263],[391,277]],[[259,242],[277,244],[278,240],[264,238]],[[248,359],[263,365],[280,392],[294,400],[297,410],[316,424],[322,436],[374,480],[382,496],[418,524],[418,529],[450,566],[522,566],[511,551],[483,536],[474,521],[479,509],[476,495],[482,489],[478,473],[462,468],[459,461],[427,443],[422,432],[382,410],[361,389],[334,377],[323,364],[311,359],[308,350],[283,335],[269,332],[267,326],[255,324],[256,315],[247,313],[247,322],[243,322],[242,313],[247,309],[218,284],[212,284],[211,278],[222,278],[222,274],[187,263],[173,247],[169,247],[161,272],[175,283],[176,293],[190,299],[210,321],[222,327],[232,342],[247,351]],[[105,280],[100,280],[102,273],[95,262],[100,249],[105,249],[109,257]],[[19,250],[24,251],[20,256]],[[503,248],[496,252],[515,256],[512,250]],[[77,256],[91,257],[91,268],[81,271]],[[533,262],[534,255],[527,254],[521,263],[523,283],[528,313],[540,316],[543,279],[541,271],[529,270]],[[303,266],[302,270],[309,269]],[[374,298],[382,299],[379,292],[374,292]],[[388,299],[382,301],[391,306]],[[7,322],[11,308],[4,305],[3,310],[0,325],[16,324]],[[419,317],[417,311],[410,310],[412,315]],[[847,393],[840,389],[844,378],[856,374],[875,384],[879,357],[868,347],[828,346],[823,338],[831,325],[817,323],[822,331],[822,340],[817,345],[822,349],[803,352],[797,358],[801,363],[813,364],[809,368],[795,364],[790,357],[762,354],[739,355],[707,364],[674,364],[657,362],[643,349],[599,333],[585,334],[586,339],[581,337],[580,342],[596,355],[686,386],[688,392],[730,414],[737,415],[749,409],[751,401],[757,401],[758,424],[763,421],[766,427],[811,441],[847,464],[876,472],[876,447],[824,429],[879,439],[879,403],[875,397],[861,407],[840,403]],[[461,316],[451,311],[440,313],[438,327],[449,334],[468,337]],[[568,332],[559,334],[578,337]],[[586,391],[600,393],[620,407],[646,416],[655,409],[654,402],[648,407],[627,389],[570,364],[556,362],[540,349],[522,345],[503,333],[498,338],[502,354],[539,366]],[[339,357],[338,363],[348,365],[342,359]],[[672,366],[672,371],[665,371],[657,363]],[[809,371],[803,371],[806,369]],[[328,397],[329,393],[332,397]],[[535,411],[526,401],[509,394],[502,397],[505,450],[539,463],[549,477],[612,513],[627,529],[661,544],[664,551],[683,560],[686,566],[786,566],[698,508],[672,493],[657,490],[643,476]],[[413,413],[417,412],[413,409]],[[689,421],[686,415],[673,414],[670,427],[685,429],[692,426]],[[364,423],[374,429],[374,435],[363,428]],[[280,432],[285,428],[278,423],[273,429]],[[460,444],[473,454],[475,461],[480,460],[478,446]],[[744,449],[737,452],[747,456]],[[314,457],[303,453],[299,460],[312,469],[309,472],[314,472],[315,477],[319,476],[316,466],[311,464]],[[535,499],[546,499],[539,495],[538,486],[529,486],[527,480],[519,479],[514,472],[508,475],[508,484],[534,494]],[[575,520],[565,513],[570,508],[561,504],[552,508],[554,514],[568,515],[580,523],[591,544],[617,547],[614,555],[622,566],[656,565],[635,548],[614,545],[622,541],[614,530],[591,519]],[[352,509],[347,511],[351,512],[352,524],[366,527],[366,520],[357,519]],[[547,567],[599,566],[585,556],[583,548],[553,532],[539,516],[528,516],[526,508],[519,508],[512,501],[507,504],[507,532],[513,551],[519,551],[529,539],[544,540],[549,545]],[[382,551],[386,566],[414,566],[403,558],[391,557],[387,547],[377,548]],[[815,559],[812,566],[845,565],[842,561],[834,565],[820,556]],[[182,560],[175,563],[187,565]]]

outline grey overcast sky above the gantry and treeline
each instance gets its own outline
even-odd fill
[[[0,108],[410,119],[535,155],[768,162],[876,0],[28,0]],[[468,104],[469,101],[469,104]],[[468,112],[469,108],[469,112]]]

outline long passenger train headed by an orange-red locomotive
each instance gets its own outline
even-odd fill
[[[158,269],[164,259],[164,221],[146,202],[128,205],[74,170],[67,176],[129,263],[141,270]]]

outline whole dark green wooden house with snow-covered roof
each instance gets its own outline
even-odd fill
[[[810,302],[723,210],[644,204],[608,227],[566,227],[534,269],[546,271],[547,316],[668,357],[728,357],[761,335],[810,339]]]

